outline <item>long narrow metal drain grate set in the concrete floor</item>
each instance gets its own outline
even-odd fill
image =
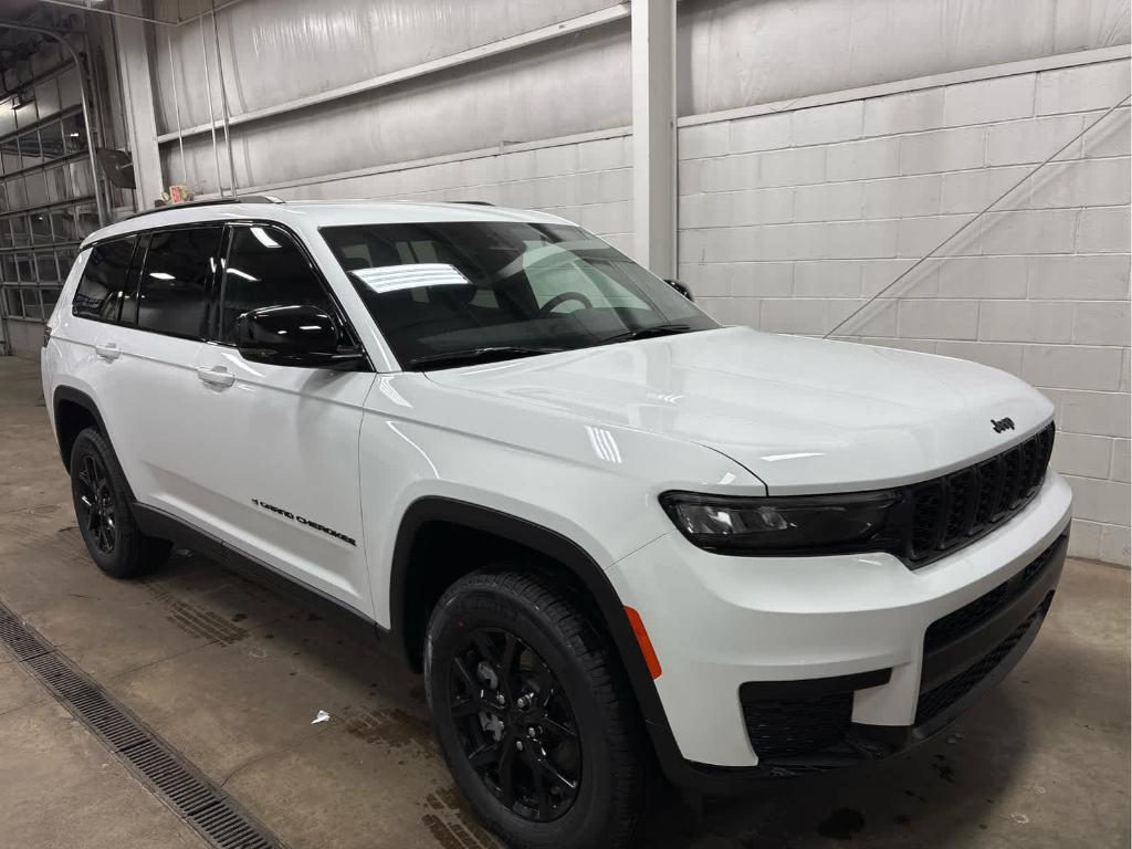
[[[6,645],[75,717],[186,823],[218,849],[280,849],[269,831],[180,758],[85,672],[0,603]]]

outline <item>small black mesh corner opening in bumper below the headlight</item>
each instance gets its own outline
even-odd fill
[[[844,738],[852,723],[852,693],[743,705],[751,746],[761,761],[813,754]]]

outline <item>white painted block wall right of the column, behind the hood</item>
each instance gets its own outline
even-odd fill
[[[899,280],[838,335],[1039,387],[1075,494],[1072,551],[1127,565],[1127,104],[1077,137],[1129,94],[1129,61],[1002,70],[686,119],[680,277],[726,323],[813,335]]]

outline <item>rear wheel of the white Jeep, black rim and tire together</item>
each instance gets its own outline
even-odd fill
[[[130,512],[130,490],[110,443],[94,428],[75,439],[71,498],[91,559],[112,577],[137,577],[157,568],[173,548],[142,533]]]

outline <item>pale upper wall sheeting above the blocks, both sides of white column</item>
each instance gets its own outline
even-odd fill
[[[224,94],[235,115],[277,108],[616,6],[246,0],[218,15]],[[1120,0],[685,0],[679,10],[681,115],[1127,43],[1129,20]],[[161,0],[155,11],[186,17],[197,6]],[[211,19],[155,35],[161,130],[209,120],[206,61],[218,118]],[[243,125],[232,131],[237,183],[269,187],[625,126],[628,62],[620,20]],[[186,174],[199,194],[217,190],[211,138],[185,143],[183,170],[178,145],[162,147],[169,181]]]

